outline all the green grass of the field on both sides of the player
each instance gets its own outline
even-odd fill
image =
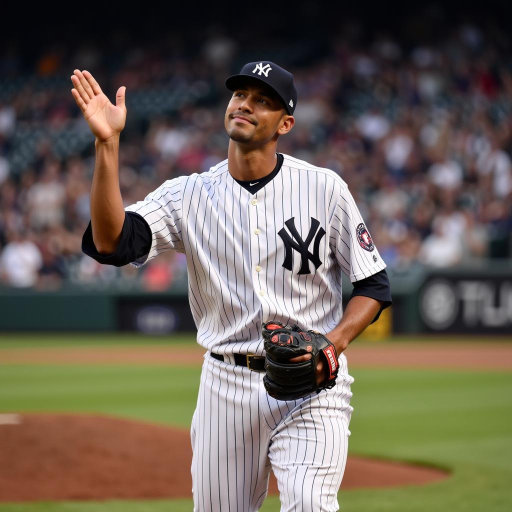
[[[133,344],[137,338],[140,344],[155,343],[155,338],[123,335],[121,339]],[[23,339],[22,343],[34,343],[33,337]],[[57,342],[69,345],[71,338],[67,339]],[[91,345],[119,339],[83,338]],[[0,361],[6,343],[18,346],[15,340],[0,338]],[[50,338],[47,343],[51,344]],[[188,344],[190,338],[178,343]],[[0,364],[0,412],[100,412],[188,429],[199,372],[199,368]],[[424,486],[342,487],[340,510],[508,512],[512,508],[512,372],[354,368],[351,374],[355,382],[350,453],[422,461],[451,468],[453,473]],[[191,509],[191,500],[0,504],[0,512]],[[267,498],[261,510],[279,510],[278,498]]]

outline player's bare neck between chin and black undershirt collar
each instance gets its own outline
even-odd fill
[[[277,163],[275,145],[259,148],[244,148],[229,141],[227,166],[229,173],[237,180],[258,180],[270,174]]]

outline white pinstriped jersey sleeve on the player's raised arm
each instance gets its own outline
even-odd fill
[[[148,194],[143,201],[127,206],[125,211],[139,214],[151,231],[151,246],[130,265],[140,267],[161,252],[175,250],[185,252],[181,237],[181,177],[165,181]]]

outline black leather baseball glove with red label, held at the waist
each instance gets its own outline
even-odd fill
[[[338,354],[334,345],[318,331],[305,331],[298,325],[284,326],[267,322],[262,326],[266,351],[263,383],[267,393],[277,400],[296,400],[310,393],[319,393],[335,385],[338,375]],[[311,359],[290,362],[303,354]],[[316,366],[320,358],[326,362],[326,379],[316,383]]]

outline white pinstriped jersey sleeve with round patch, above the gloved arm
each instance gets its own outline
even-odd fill
[[[331,219],[330,244],[338,265],[350,282],[386,268],[348,187],[340,190]]]

